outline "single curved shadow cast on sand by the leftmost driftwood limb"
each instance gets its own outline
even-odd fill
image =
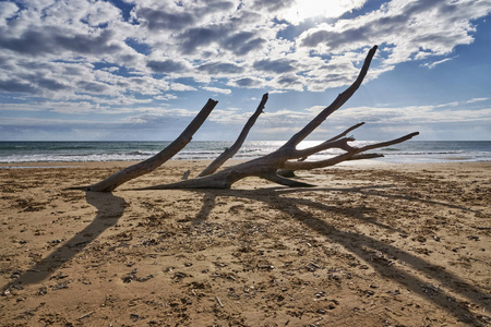
[[[105,230],[115,226],[123,215],[127,206],[127,202],[122,197],[111,193],[87,192],[86,201],[97,208],[97,215],[94,220],[72,239],[2,289],[9,290],[19,284],[36,283],[53,275],[64,263],[82,252]]]

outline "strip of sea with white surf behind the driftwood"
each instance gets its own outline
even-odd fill
[[[371,143],[375,142],[357,141],[352,145]],[[155,155],[168,144],[170,142],[0,142],[0,162],[140,161]],[[193,141],[172,159],[215,159],[231,144],[232,142]],[[233,158],[258,158],[283,144],[280,141],[248,141]],[[315,144],[319,142],[306,141],[299,147]],[[384,158],[373,159],[382,162],[491,161],[491,141],[408,141],[373,152],[384,155]],[[340,153],[343,152],[338,149],[330,149],[309,159],[325,159]]]

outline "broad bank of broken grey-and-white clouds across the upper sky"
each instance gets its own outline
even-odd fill
[[[2,1],[0,93],[116,110],[200,89],[323,92],[350,84],[373,44],[368,78],[402,62],[452,60],[490,12],[489,0],[366,2]]]

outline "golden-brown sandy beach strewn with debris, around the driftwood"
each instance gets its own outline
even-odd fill
[[[112,194],[63,189],[128,162],[0,169],[0,325],[491,323],[491,162],[129,191],[205,164],[170,161]]]

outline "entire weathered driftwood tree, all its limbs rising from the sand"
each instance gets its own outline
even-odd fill
[[[288,140],[285,145],[283,145],[277,150],[240,165],[236,165],[224,169],[221,171],[215,172],[221,165],[232,157],[243,144],[249,131],[255,123],[258,117],[263,112],[264,106],[267,101],[267,94],[265,94],[255,110],[254,114],[249,119],[244,125],[242,132],[237,138],[236,143],[228,149],[226,149],[217,159],[215,159],[205,170],[203,170],[197,178],[183,180],[171,184],[161,184],[149,187],[144,187],[140,190],[164,190],[164,189],[229,189],[237,181],[247,177],[260,177],[268,181],[291,186],[291,187],[307,187],[313,186],[303,182],[288,179],[285,172],[291,172],[295,170],[309,170],[314,168],[323,168],[339,164],[346,160],[360,160],[367,158],[383,157],[379,154],[362,154],[367,150],[385,147],[388,145],[397,144],[411,137],[418,135],[418,132],[405,135],[399,138],[395,138],[387,142],[381,142],[363,147],[354,147],[349,145],[350,142],[355,141],[354,137],[346,137],[349,132],[360,128],[364,123],[358,123],[339,135],[336,135],[316,146],[312,146],[304,149],[297,149],[297,146],[306,140],[316,128],[334,111],[339,109],[358,89],[361,85],[367,72],[369,70],[370,63],[373,56],[376,52],[376,46],[374,46],[367,55],[363,62],[363,66],[356,81],[324,110],[322,110],[313,120],[311,120],[303,129],[301,129],[297,134],[295,134],[290,140]],[[207,118],[209,112],[216,106],[216,101],[209,99],[206,106],[201,110],[196,118],[191,122],[191,124],[185,129],[185,131],[167,148],[156,156],[125,168],[113,175],[107,178],[106,180],[96,183],[91,186],[84,187],[87,191],[99,191],[99,192],[110,192],[122,183],[134,179],[139,175],[147,173],[161,164],[170,159],[175,154],[182,149],[190,141],[192,135],[197,131],[204,120]],[[319,160],[319,161],[307,161],[306,159],[314,154],[330,149],[339,148],[345,153],[335,156],[330,159]]]

